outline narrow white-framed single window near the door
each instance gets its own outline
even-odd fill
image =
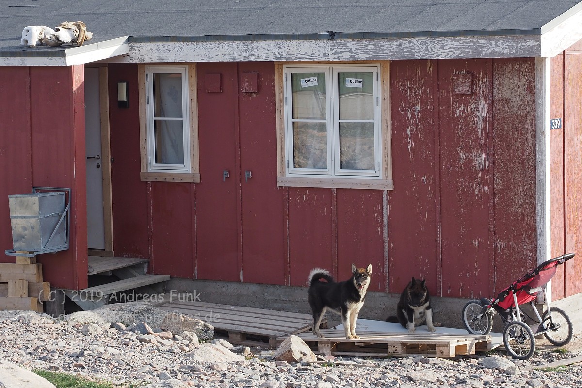
[[[145,67],[147,171],[191,173],[188,68]]]

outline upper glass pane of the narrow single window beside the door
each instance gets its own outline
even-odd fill
[[[154,73],[154,117],[182,117],[182,74]]]

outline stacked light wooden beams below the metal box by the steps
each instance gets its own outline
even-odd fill
[[[16,256],[16,263],[0,263],[0,310],[42,312],[42,302],[50,296],[51,286],[42,281],[42,264],[37,264],[35,256]]]

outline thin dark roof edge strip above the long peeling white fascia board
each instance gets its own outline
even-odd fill
[[[328,40],[328,39],[387,39],[387,38],[435,38],[435,37],[489,37],[489,36],[541,35],[541,29],[523,30],[466,30],[420,31],[416,33],[338,33],[321,34],[271,34],[271,35],[200,35],[189,37],[129,37],[130,43],[144,42],[212,42],[212,41],[270,41],[270,40]]]

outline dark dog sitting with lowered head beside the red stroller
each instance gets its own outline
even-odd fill
[[[386,318],[388,322],[400,322],[409,333],[414,333],[415,327],[426,323],[429,332],[434,332],[432,325],[431,296],[428,293],[425,280],[416,280],[414,277],[408,283],[396,306],[396,316]]]

